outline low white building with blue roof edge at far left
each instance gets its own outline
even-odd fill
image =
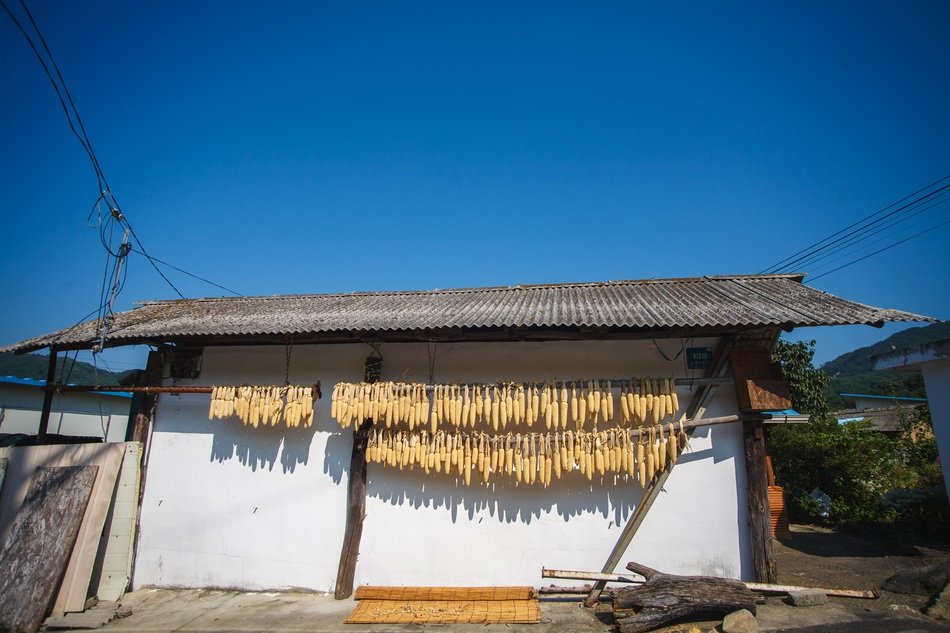
[[[45,385],[45,380],[0,376],[0,434],[36,434]],[[131,405],[129,393],[57,393],[47,432],[124,442]]]

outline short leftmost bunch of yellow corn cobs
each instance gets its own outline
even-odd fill
[[[313,387],[222,385],[211,390],[208,419],[237,417],[247,426],[287,428],[313,424]]]

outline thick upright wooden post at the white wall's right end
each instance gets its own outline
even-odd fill
[[[745,439],[746,496],[749,500],[749,538],[756,582],[774,583],[772,525],[769,520],[768,472],[765,464],[765,429],[761,420],[743,422]]]

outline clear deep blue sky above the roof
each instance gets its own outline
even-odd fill
[[[248,295],[755,273],[950,174],[945,1],[29,6],[145,246]],[[0,85],[7,343],[93,310],[104,251],[3,13]],[[950,318],[948,237],[815,286]],[[174,296],[129,270],[119,309]]]

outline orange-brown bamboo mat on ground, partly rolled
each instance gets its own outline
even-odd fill
[[[541,621],[531,587],[373,587],[346,624],[521,624]]]

